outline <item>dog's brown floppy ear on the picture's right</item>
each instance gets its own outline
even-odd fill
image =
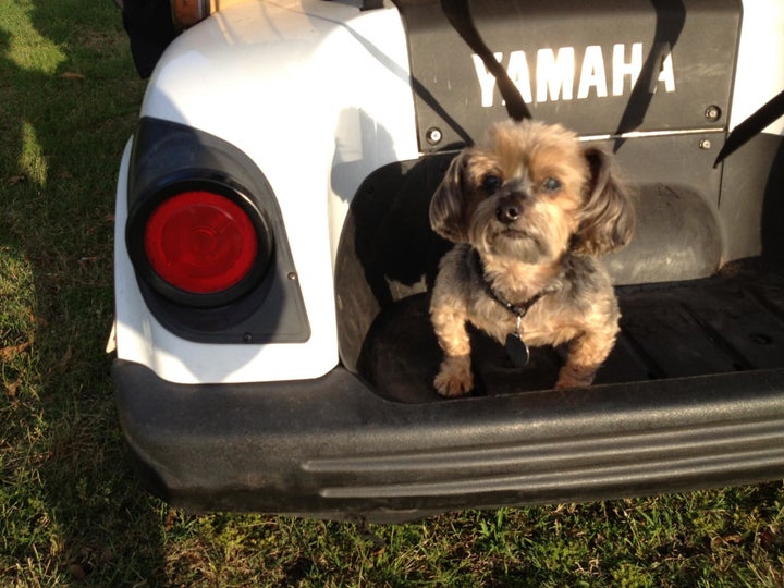
[[[597,147],[587,147],[584,152],[590,180],[572,248],[575,253],[600,255],[623,247],[632,240],[635,209],[610,156]]]

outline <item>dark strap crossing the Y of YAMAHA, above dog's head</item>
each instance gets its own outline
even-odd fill
[[[523,100],[517,86],[510,78],[506,70],[498,62],[490,48],[485,45],[470,14],[470,0],[441,0],[441,10],[449,19],[454,29],[463,37],[476,54],[478,54],[488,71],[495,77],[501,96],[506,102],[506,112],[515,121],[530,119],[528,106]]]

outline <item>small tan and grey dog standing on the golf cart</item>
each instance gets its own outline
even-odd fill
[[[466,321],[506,345],[568,342],[555,388],[588,385],[615,343],[617,301],[595,256],[632,237],[630,198],[601,149],[559,125],[505,121],[452,161],[430,224],[457,245],[439,266],[430,317],[443,396],[474,388]]]

